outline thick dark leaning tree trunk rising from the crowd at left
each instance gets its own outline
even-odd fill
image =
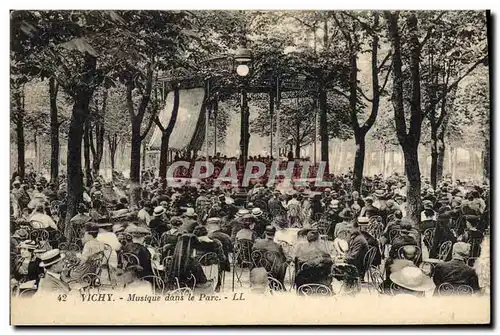
[[[76,208],[83,197],[82,137],[85,121],[89,115],[92,92],[81,92],[76,96],[68,132],[68,204],[66,223],[76,214]]]

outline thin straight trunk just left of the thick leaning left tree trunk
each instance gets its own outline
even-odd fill
[[[50,99],[50,182],[59,183],[59,120],[57,115],[57,92],[59,85],[54,78],[49,79]]]

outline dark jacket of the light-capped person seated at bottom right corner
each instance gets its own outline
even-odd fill
[[[438,263],[434,268],[433,276],[436,284],[436,292],[439,285],[450,283],[453,286],[468,285],[474,292],[479,291],[479,280],[473,268],[459,259],[452,259],[449,262]]]

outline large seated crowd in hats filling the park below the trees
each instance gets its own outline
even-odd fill
[[[361,194],[349,175],[331,181],[257,183],[237,201],[230,187],[173,188],[151,176],[133,203],[128,189],[97,178],[68,218],[64,176],[14,176],[12,292],[218,292],[231,277],[233,290],[248,278],[263,293],[489,292],[487,185],[444,180],[433,189],[424,179],[414,220],[403,176],[365,178]]]

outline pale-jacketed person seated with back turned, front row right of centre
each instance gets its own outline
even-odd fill
[[[298,244],[295,250],[298,270],[295,284],[297,287],[312,283],[330,285],[332,257],[325,244],[319,241],[318,230],[309,228],[306,231],[307,243]]]

